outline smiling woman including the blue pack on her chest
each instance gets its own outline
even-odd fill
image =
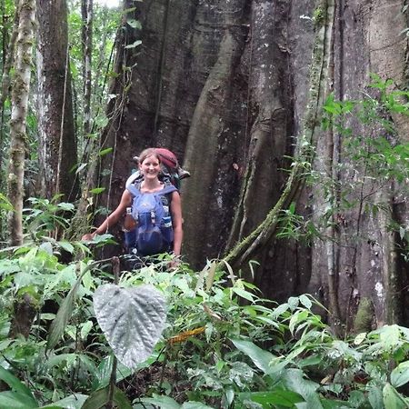
[[[159,148],[157,148],[159,149]],[[183,238],[180,195],[170,182],[159,179],[161,156],[156,148],[146,148],[138,156],[142,181],[126,184],[119,205],[94,233],[83,235],[93,240],[96,234],[108,233],[125,216],[125,247],[138,257],[161,253],[181,254]],[[129,218],[134,219],[129,220]]]

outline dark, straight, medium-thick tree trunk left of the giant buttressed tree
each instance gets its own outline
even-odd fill
[[[38,130],[41,193],[75,199],[78,181],[75,125],[68,58],[65,0],[37,0]]]

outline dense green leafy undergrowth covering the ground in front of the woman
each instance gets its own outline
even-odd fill
[[[33,205],[25,244],[1,251],[0,408],[409,404],[407,328],[339,339],[313,297],[265,300],[228,264],[169,271],[162,256],[119,272],[83,243],[53,238],[71,205]],[[63,251],[78,261],[62,263]],[[35,319],[27,338],[12,338],[21,294],[35,299]]]

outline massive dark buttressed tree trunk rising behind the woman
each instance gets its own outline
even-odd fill
[[[359,185],[356,175],[337,171],[338,165],[351,165],[351,158],[345,157],[341,135],[320,133],[318,109],[332,91],[341,100],[362,99],[372,71],[404,83],[401,6],[381,0],[139,5],[128,17],[139,18],[143,28],[127,25],[125,43],[118,48],[143,41],[137,51],[121,51],[129,69],[115,83],[121,115],[107,131],[106,143],[115,147],[115,155],[105,163],[112,169],[105,204],[117,204],[135,152],[148,145],[170,147],[192,173],[184,182],[183,205],[184,253],[193,265],[228,253],[238,242],[244,247],[234,260],[260,262],[255,282],[269,297],[283,300],[309,291],[330,304],[334,321],[341,319],[349,329],[360,300],[373,305],[375,324],[407,324],[402,290],[407,264],[388,233],[391,221],[407,219],[406,199],[397,200],[393,183],[379,186],[367,179]],[[394,121],[404,141],[409,123],[397,116]],[[365,129],[355,125],[354,131]],[[311,246],[274,236],[280,210],[291,201],[296,200],[299,214],[313,218],[339,202],[334,186],[329,195],[322,194],[323,181],[300,190],[298,168],[291,174],[294,180],[286,178],[292,160],[285,157],[303,152],[302,146],[294,147],[306,134],[316,153],[314,171],[331,175],[341,186],[358,186],[350,198],[356,204],[333,214],[324,240],[316,238]],[[358,170],[363,175],[364,169]],[[393,212],[364,214],[361,199],[374,189],[379,200],[387,195]],[[276,218],[268,221],[267,214]],[[253,241],[246,242],[254,231]],[[391,301],[396,299],[402,303]]]

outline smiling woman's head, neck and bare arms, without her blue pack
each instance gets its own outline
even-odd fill
[[[165,189],[165,183],[159,180],[161,173],[161,160],[159,155],[155,152],[155,148],[147,148],[139,155],[139,172],[143,175],[142,183],[137,186],[141,194],[154,194],[159,193]],[[181,254],[183,229],[182,229],[182,204],[179,192],[168,194],[169,210],[172,217],[172,227],[174,232],[173,248],[170,249],[178,256]],[[105,219],[105,222],[101,224],[94,233],[85,234],[83,240],[92,240],[96,234],[104,234],[110,227],[118,223],[119,219],[125,214],[126,209],[131,207],[134,200],[134,195],[130,190],[125,189],[121,202],[115,211]]]

